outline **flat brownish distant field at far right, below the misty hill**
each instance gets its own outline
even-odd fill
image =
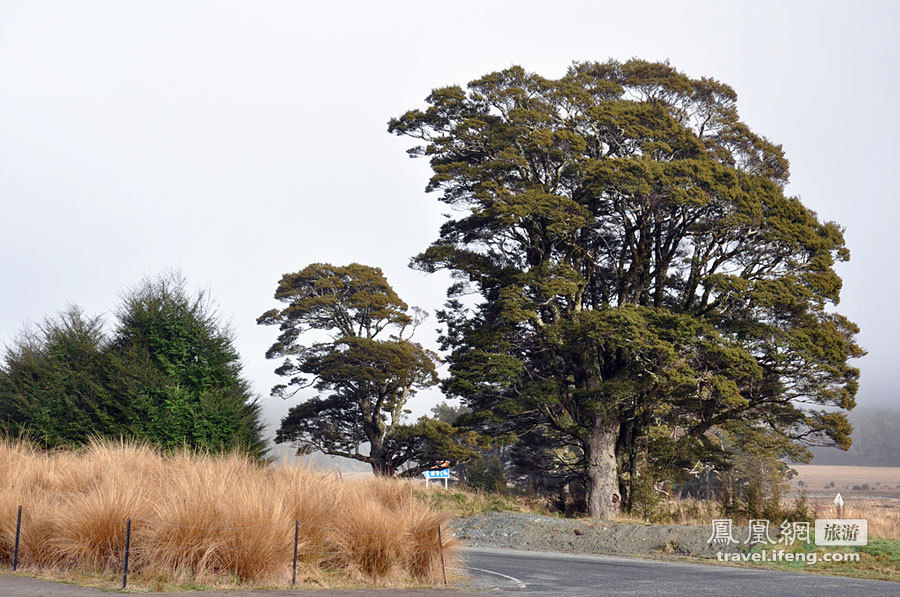
[[[791,468],[797,471],[792,488],[806,489],[810,495],[840,491],[844,497],[900,498],[900,467],[801,464]]]

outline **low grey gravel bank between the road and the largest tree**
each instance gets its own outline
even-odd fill
[[[645,525],[564,519],[520,512],[490,512],[451,523],[457,538],[473,547],[507,547],[612,555],[714,556],[725,551],[710,544],[712,526]],[[735,527],[735,539],[747,536]],[[735,550],[732,547],[731,550]]]

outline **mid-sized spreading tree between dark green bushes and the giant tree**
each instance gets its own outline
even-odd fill
[[[319,396],[291,408],[276,442],[369,463],[392,475],[415,455],[403,427],[407,401],[437,383],[433,355],[410,337],[421,313],[410,309],[380,269],[314,263],[285,274],[275,298],[283,309],[258,323],[279,326],[267,358],[283,359],[287,382],[274,396],[315,387]]]

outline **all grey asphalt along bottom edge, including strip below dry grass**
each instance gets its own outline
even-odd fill
[[[170,597],[275,597],[287,595],[382,597],[463,597],[489,593],[512,595],[770,595],[811,597],[900,596],[900,583],[856,580],[818,574],[799,574],[661,562],[612,556],[535,553],[508,549],[468,549],[465,553],[468,590],[397,591],[204,591],[156,593]],[[485,593],[487,591],[488,593]],[[109,595],[98,589],[52,583],[21,576],[0,575],[3,597],[95,597]]]

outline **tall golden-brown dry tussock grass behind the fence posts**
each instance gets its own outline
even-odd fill
[[[449,516],[403,481],[342,483],[236,454],[162,455],[116,442],[46,453],[10,441],[0,441],[0,479],[0,562],[12,561],[22,504],[19,562],[33,573],[118,573],[130,518],[129,569],[157,584],[290,582],[294,521],[298,578],[327,583],[337,571],[368,584],[441,580],[437,528]],[[443,549],[452,565],[452,538]]]

